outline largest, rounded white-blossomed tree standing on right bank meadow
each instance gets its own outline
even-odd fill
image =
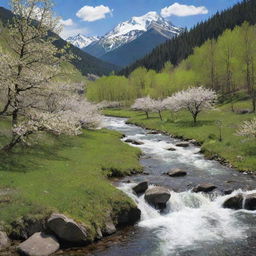
[[[210,109],[217,100],[217,95],[213,90],[203,87],[194,87],[174,94],[170,99],[173,109],[188,110],[193,116],[194,123],[198,114],[204,109]]]

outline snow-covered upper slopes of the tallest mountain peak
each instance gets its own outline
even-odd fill
[[[141,17],[132,17],[130,20],[118,24],[101,38],[99,44],[106,52],[110,52],[137,39],[153,26],[166,31],[165,35],[170,38],[181,32],[181,28],[173,26],[156,12],[149,12]]]

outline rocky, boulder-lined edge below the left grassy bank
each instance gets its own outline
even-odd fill
[[[52,213],[44,218],[23,217],[12,223],[9,232],[0,229],[0,253],[41,256],[51,255],[61,248],[86,246],[126,226],[134,225],[140,219],[140,215],[141,212],[135,205],[115,215],[109,214],[104,227],[97,228],[94,238],[83,223],[60,213]]]

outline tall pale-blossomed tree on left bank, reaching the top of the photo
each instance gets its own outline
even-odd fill
[[[83,125],[95,125],[94,106],[70,88],[51,84],[66,59],[49,33],[59,31],[52,1],[11,0],[11,7],[15,14],[9,24],[11,52],[0,54],[0,89],[5,99],[1,115],[12,121],[11,140],[3,149],[10,150],[39,131],[77,135]]]

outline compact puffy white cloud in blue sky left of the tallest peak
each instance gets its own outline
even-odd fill
[[[92,22],[96,20],[105,19],[107,14],[112,14],[112,10],[108,6],[84,6],[77,13],[76,16],[84,21]]]

